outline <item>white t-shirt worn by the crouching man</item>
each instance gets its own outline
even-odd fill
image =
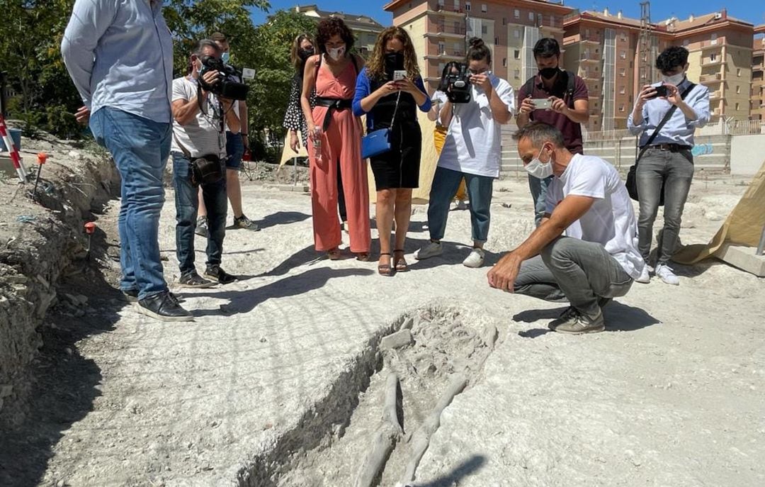
[[[637,251],[637,221],[630,194],[614,166],[593,155],[575,154],[563,174],[552,178],[547,190],[548,213],[569,194],[596,199],[565,235],[600,243],[624,272],[637,279],[645,265]]]

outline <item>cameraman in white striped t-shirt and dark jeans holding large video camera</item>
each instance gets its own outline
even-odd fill
[[[237,98],[246,90],[226,79],[220,47],[205,39],[190,55],[189,74],[173,80],[173,186],[175,188],[175,241],[183,287],[209,287],[232,283],[233,276],[220,268],[226,234],[227,125],[239,132],[239,117],[226,93]],[[245,93],[242,93],[244,91]],[[225,121],[225,123],[224,123]],[[197,222],[197,187],[201,185],[207,207],[207,268],[204,277],[194,267],[194,229]],[[207,279],[205,279],[207,278]],[[210,280],[212,279],[212,280]],[[214,282],[213,282],[214,281]]]

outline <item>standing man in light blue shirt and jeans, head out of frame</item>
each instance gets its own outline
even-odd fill
[[[61,54],[100,145],[122,178],[119,287],[138,312],[163,321],[192,316],[168,291],[160,261],[162,174],[170,154],[173,44],[162,2],[77,0]]]

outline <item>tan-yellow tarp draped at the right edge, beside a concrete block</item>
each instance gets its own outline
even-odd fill
[[[757,247],[765,226],[765,163],[731,211],[715,237],[705,244],[688,245],[672,256],[682,264],[694,264],[712,257],[724,243]]]

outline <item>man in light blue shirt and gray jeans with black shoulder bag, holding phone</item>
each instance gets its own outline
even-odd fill
[[[664,228],[656,251],[656,276],[663,283],[677,286],[680,281],[667,263],[677,245],[682,208],[693,179],[693,132],[709,121],[709,90],[685,77],[688,70],[685,47],[667,47],[656,58],[656,69],[661,72],[662,81],[643,87],[627,118],[627,128],[640,136],[640,155],[634,167],[636,192],[640,196],[638,250],[647,263],[653,221],[663,197]],[[635,280],[649,283],[649,271],[646,265]]]

